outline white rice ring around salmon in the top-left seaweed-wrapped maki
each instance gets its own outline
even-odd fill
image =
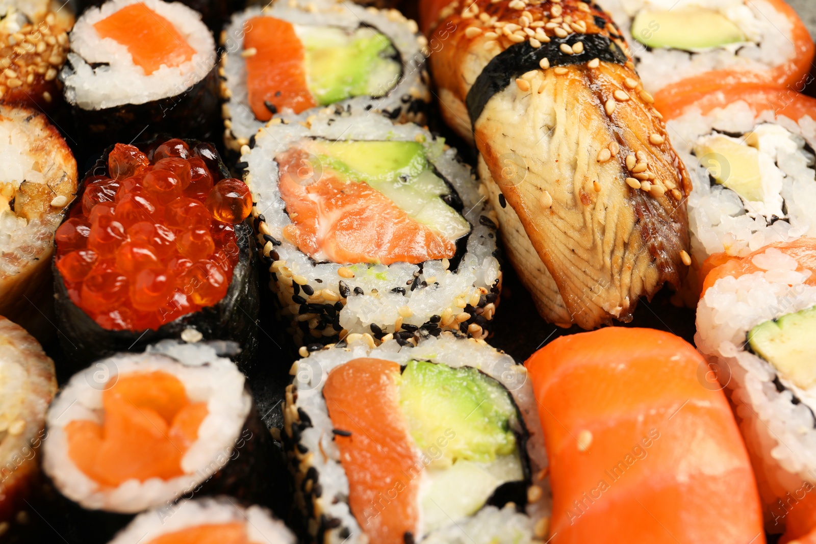
[[[155,72],[145,74],[126,46],[112,38],[100,38],[95,23],[137,2],[171,21],[195,51],[192,59],[175,67],[162,64]],[[101,7],[90,7],[74,25],[70,42],[68,63],[60,75],[65,83],[65,99],[86,110],[146,104],[180,95],[202,81],[217,60],[215,41],[201,15],[180,2],[111,0]]]

